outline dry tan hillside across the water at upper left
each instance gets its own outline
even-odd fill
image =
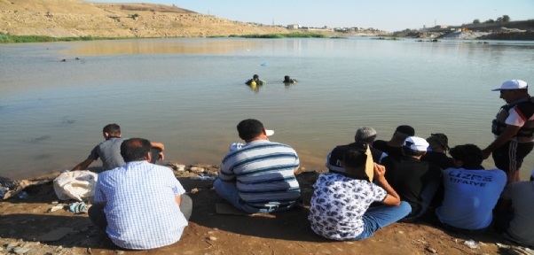
[[[0,0],[0,10],[0,32],[11,35],[202,37],[289,33],[285,27],[247,24],[164,4]]]

